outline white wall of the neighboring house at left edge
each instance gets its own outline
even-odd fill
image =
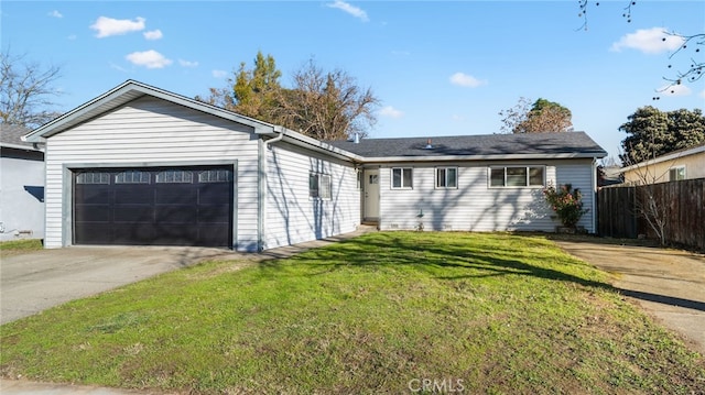
[[[44,238],[44,162],[20,156],[0,158],[0,241]]]

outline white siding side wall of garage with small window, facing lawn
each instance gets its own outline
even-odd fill
[[[351,164],[275,143],[267,150],[264,249],[351,232],[360,221],[360,194]],[[330,175],[332,198],[308,197],[311,173]]]

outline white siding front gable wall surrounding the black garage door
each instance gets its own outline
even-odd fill
[[[72,167],[236,165],[235,238],[257,249],[258,140],[252,129],[152,97],[134,100],[46,144],[47,248],[69,245]]]

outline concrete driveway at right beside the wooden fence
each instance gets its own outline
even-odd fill
[[[612,285],[705,355],[705,255],[687,251],[554,240],[612,274]]]

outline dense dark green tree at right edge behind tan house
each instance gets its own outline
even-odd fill
[[[665,112],[647,106],[627,119],[619,127],[629,134],[621,142],[623,153],[619,155],[625,165],[705,143],[705,117],[699,109]]]

